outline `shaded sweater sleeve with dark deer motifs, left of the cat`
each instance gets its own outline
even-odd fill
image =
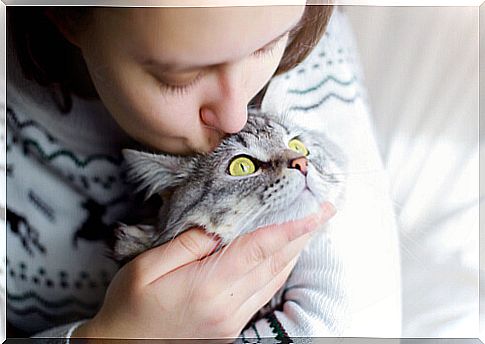
[[[8,54],[7,318],[26,335],[65,338],[63,324],[94,316],[119,268],[105,240],[130,208],[119,154],[128,138],[100,101],[74,98],[60,113]]]

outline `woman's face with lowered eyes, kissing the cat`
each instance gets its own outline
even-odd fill
[[[304,2],[303,2],[304,3]],[[213,149],[282,57],[304,6],[96,9],[74,34],[118,124],[155,149]]]

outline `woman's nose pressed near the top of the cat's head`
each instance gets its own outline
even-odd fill
[[[216,71],[213,79],[216,87],[200,107],[200,119],[208,127],[232,134],[246,125],[249,99],[243,71],[238,63],[221,66]]]

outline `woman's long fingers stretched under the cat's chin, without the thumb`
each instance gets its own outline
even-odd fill
[[[269,226],[244,235],[197,264],[187,265],[177,270],[178,273],[167,275],[160,280],[158,287],[184,284],[189,286],[190,295],[206,300],[220,300],[229,295],[230,288],[239,289],[239,304],[227,299],[231,307],[239,307],[245,298],[264,288],[298,255],[311,236],[310,229],[334,214],[331,205],[322,209],[321,213],[306,220]],[[295,232],[300,236],[296,236]],[[235,283],[239,284],[235,286]]]

